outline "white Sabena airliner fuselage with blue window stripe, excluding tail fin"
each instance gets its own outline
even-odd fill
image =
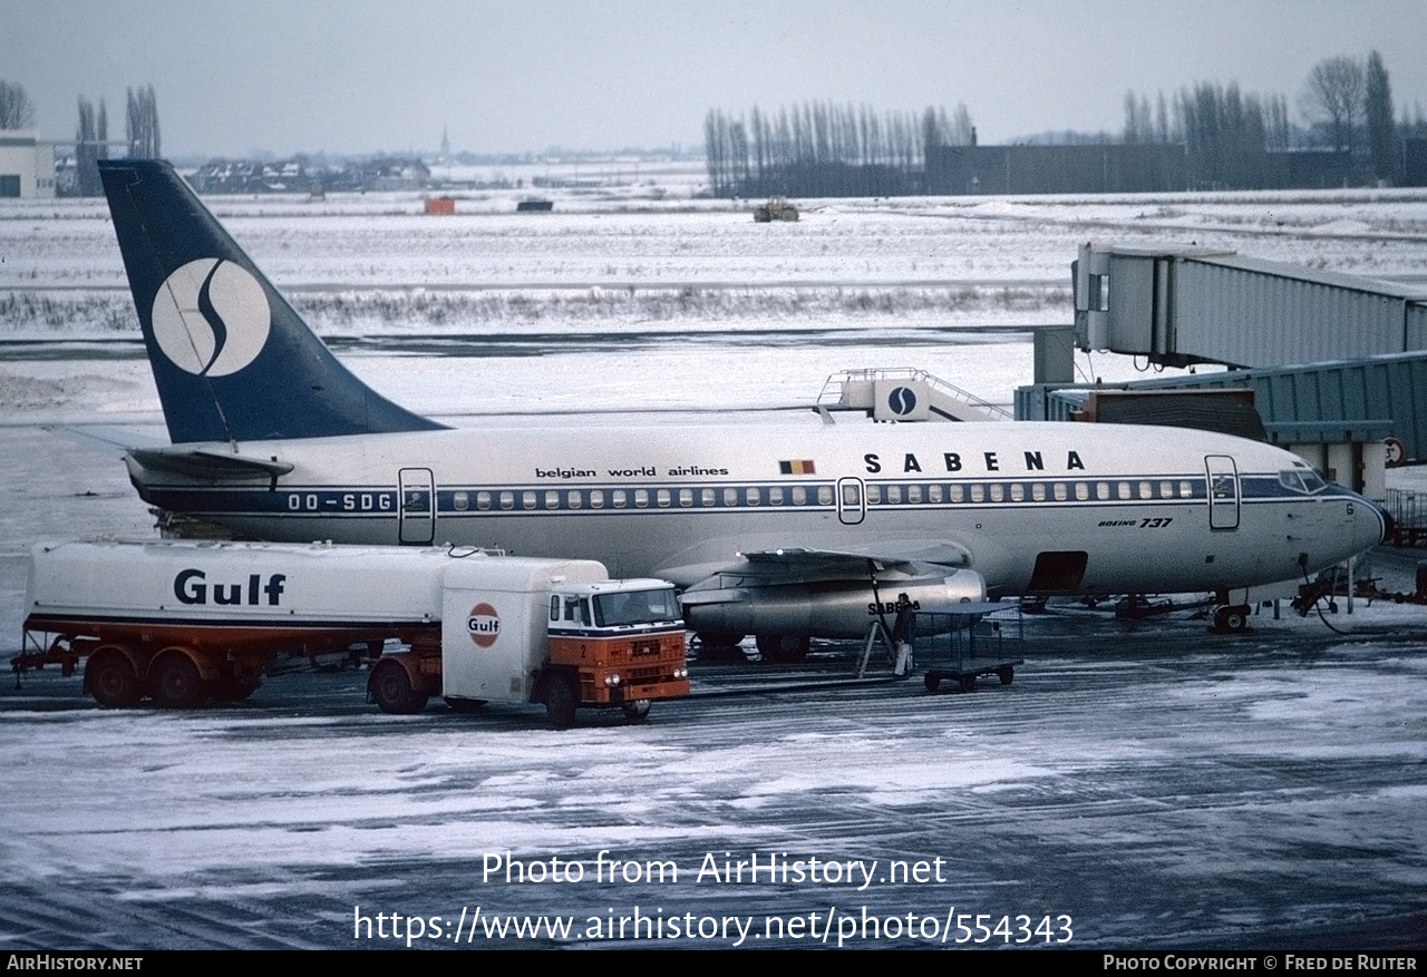
[[[1176,428],[507,428],[240,454],[293,471],[215,485],[130,466],[147,501],[263,539],[495,546],[679,585],[746,552],[945,543],[993,593],[1189,592],[1301,578],[1383,535],[1357,495],[1280,482],[1307,471],[1296,456]]]

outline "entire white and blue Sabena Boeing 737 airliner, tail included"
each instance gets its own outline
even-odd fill
[[[101,161],[173,441],[144,501],[237,536],[588,558],[684,588],[705,643],[862,638],[1005,595],[1244,589],[1339,563],[1386,518],[1271,445],[1095,424],[452,429],[342,367],[163,161]],[[1236,603],[1237,598],[1237,603]]]

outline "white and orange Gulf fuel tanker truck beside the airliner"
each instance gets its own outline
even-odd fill
[[[30,555],[19,675],[59,663],[110,707],[247,699],[280,653],[390,648],[367,697],[388,713],[544,703],[642,719],[688,695],[665,580],[585,559],[475,549],[241,542],[57,542]]]

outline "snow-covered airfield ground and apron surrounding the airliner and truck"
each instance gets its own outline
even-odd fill
[[[1009,404],[1030,382],[1029,329],[1072,318],[1069,265],[1090,240],[1427,274],[1420,193],[799,201],[802,221],[775,225],[638,184],[551,191],[555,213],[515,215],[529,193],[457,194],[447,218],[415,194],[211,204],[355,372],[469,425],[716,414],[756,436],[769,411],[816,424],[823,378],[863,367]],[[140,355],[103,205],[4,201],[0,650],[19,645],[33,542],[153,533],[118,452],[50,429],[163,439]],[[1077,368],[1136,375],[1109,357]],[[1410,589],[1414,556],[1373,572]],[[283,675],[243,706],[178,715],[101,710],[50,672],[0,693],[0,947],[368,946],[352,943],[358,906],[451,927],[477,906],[577,920],[542,946],[605,946],[588,920],[639,907],[681,924],[819,914],[815,929],[863,909],[940,927],[1065,914],[1073,947],[1420,947],[1427,618],[1359,603],[1331,620],[1351,635],[1263,615],[1223,639],[1187,613],[1060,610],[1030,623],[1007,687],[706,697],[565,733],[538,709],[381,716],[365,673]],[[849,655],[823,648],[811,675]],[[681,874],[482,883],[507,850]],[[879,873],[942,859],[942,881],[696,877],[725,853]],[[848,946],[926,943],[942,946]]]

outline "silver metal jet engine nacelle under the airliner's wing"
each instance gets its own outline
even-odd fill
[[[684,622],[698,632],[866,638],[878,620],[890,628],[905,609],[950,610],[986,599],[976,571],[950,576],[870,582],[745,583],[692,588],[684,593]]]

